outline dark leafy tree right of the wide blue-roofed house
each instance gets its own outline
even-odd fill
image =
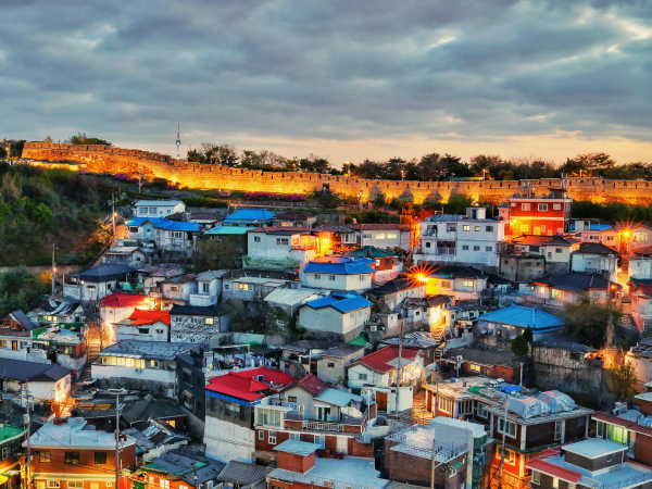
[[[584,294],[579,302],[564,304],[562,313],[566,330],[573,334],[578,342],[595,349],[605,346],[607,326],[618,325],[622,317],[623,312],[611,301],[591,301],[588,294]]]

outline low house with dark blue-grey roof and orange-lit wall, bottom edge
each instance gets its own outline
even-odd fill
[[[129,476],[128,489],[217,488],[220,474],[226,466],[199,453],[168,451],[156,456]]]

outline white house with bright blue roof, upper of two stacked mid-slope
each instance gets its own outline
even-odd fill
[[[326,255],[301,269],[301,284],[315,289],[362,292],[372,288],[373,260]]]

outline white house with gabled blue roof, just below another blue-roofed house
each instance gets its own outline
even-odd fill
[[[354,292],[334,292],[299,306],[299,326],[342,341],[355,338],[372,314],[372,303]]]

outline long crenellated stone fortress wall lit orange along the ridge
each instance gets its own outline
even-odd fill
[[[474,200],[502,202],[506,197],[521,191],[523,185],[521,180],[393,181],[311,173],[262,172],[202,165],[139,150],[51,142],[25,143],[23,158],[50,163],[74,163],[79,170],[95,173],[141,173],[148,178],[166,178],[189,188],[301,193],[321,191],[326,186],[331,191],[349,196],[362,195],[364,200],[383,192],[387,199],[412,197],[416,203],[426,199],[447,201],[456,193],[465,193]],[[537,196],[547,192],[548,188],[561,186],[559,178],[527,181],[535,187]],[[578,201],[652,204],[652,183],[649,181],[573,177],[566,178],[564,184],[570,197]]]

